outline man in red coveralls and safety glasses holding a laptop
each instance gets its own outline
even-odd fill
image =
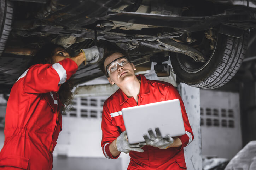
[[[136,76],[136,68],[128,54],[117,47],[104,49],[100,66],[110,84],[120,88],[103,105],[101,147],[104,155],[116,159],[120,152],[129,153],[131,159],[127,169],[130,170],[186,169],[183,147],[190,144],[194,136],[176,88],[163,81],[147,80],[143,75]],[[168,135],[163,139],[159,129],[155,128],[156,136],[153,130],[149,130],[143,136],[144,143],[129,144],[121,109],[172,99],[180,100],[186,133],[174,138]]]

